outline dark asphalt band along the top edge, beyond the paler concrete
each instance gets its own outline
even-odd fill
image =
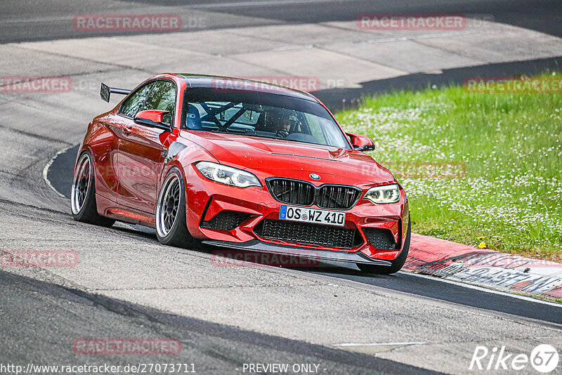
[[[315,23],[334,20],[356,20],[362,13],[455,13],[492,15],[496,22],[507,23],[547,34],[562,36],[560,27],[562,5],[557,0],[230,0],[230,1],[182,1],[182,0],[93,0],[88,2],[42,0],[37,7],[34,0],[5,0],[1,4],[0,21],[3,32],[0,43],[85,37],[67,27],[67,18],[89,13],[143,14],[157,8],[156,13],[174,13],[178,6],[194,11],[209,11],[216,15],[243,15],[261,18],[261,25],[272,22]],[[151,8],[152,6],[152,8]],[[217,17],[220,21],[209,22],[206,28],[243,27],[243,20],[235,23]],[[123,33],[120,32],[120,35]],[[138,34],[138,32],[131,32]],[[107,35],[107,32],[99,35]],[[88,37],[96,36],[89,34]]]

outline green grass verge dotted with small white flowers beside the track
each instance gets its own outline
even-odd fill
[[[561,93],[428,88],[364,98],[336,117],[374,139],[377,162],[398,169],[414,232],[562,261]],[[441,163],[457,177],[421,169]]]

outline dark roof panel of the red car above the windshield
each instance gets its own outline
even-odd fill
[[[236,91],[236,87],[244,87],[240,91],[254,91],[263,93],[276,93],[278,95],[289,96],[292,98],[309,100],[318,103],[318,100],[309,93],[305,91],[296,90],[295,88],[289,88],[286,86],[281,86],[277,84],[269,84],[267,82],[255,80],[255,79],[245,79],[238,77],[226,77],[226,76],[216,76],[207,74],[190,74],[190,73],[176,73],[178,76],[182,77],[187,81],[190,87],[208,87],[215,88],[220,80],[221,84],[231,85],[233,91]],[[256,85],[259,84],[259,85]],[[282,90],[279,90],[282,88]]]

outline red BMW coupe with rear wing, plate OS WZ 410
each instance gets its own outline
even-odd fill
[[[155,228],[159,242],[357,263],[397,272],[407,197],[309,93],[259,81],[159,74],[88,126],[72,216]]]

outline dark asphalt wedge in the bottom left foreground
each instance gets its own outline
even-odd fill
[[[194,364],[198,374],[233,374],[241,372],[244,359],[246,363],[320,364],[319,371],[329,374],[436,374],[390,360],[166,314],[4,271],[0,271],[0,302],[0,361],[4,364],[124,367],[174,362]],[[86,355],[74,353],[71,343],[93,333],[96,337],[173,337],[181,340],[181,353],[172,360],[169,355],[96,355],[94,360],[86,360]]]

